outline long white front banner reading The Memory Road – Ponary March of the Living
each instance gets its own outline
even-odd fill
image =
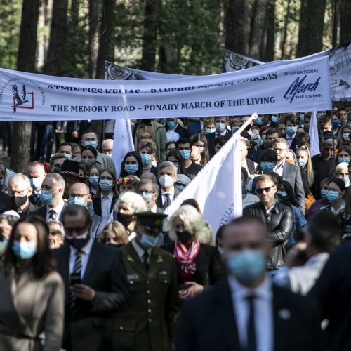
[[[265,64],[269,65],[269,64]],[[208,117],[331,110],[328,59],[158,81],[51,77],[0,69],[0,120]]]

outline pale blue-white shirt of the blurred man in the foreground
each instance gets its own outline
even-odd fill
[[[245,348],[247,345],[247,322],[249,319],[249,302],[247,296],[255,295],[253,302],[255,310],[255,329],[257,351],[272,351],[274,340],[273,324],[273,293],[270,279],[265,277],[260,286],[256,289],[249,289],[241,285],[234,277],[228,278],[234,315],[237,321],[240,345]]]

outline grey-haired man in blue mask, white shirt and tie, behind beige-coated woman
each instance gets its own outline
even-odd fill
[[[41,185],[41,203],[45,206],[32,212],[32,215],[44,218],[44,220],[61,220],[63,208],[67,206],[63,201],[65,192],[65,180],[58,173],[48,173]]]

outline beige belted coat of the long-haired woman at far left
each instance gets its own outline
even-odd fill
[[[44,350],[59,350],[63,332],[64,286],[57,272],[35,279],[24,272],[15,282],[0,268],[0,350],[41,351],[39,334],[45,332]]]

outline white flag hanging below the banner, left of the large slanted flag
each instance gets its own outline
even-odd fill
[[[121,174],[121,163],[129,151],[134,151],[131,122],[129,119],[116,119],[114,122],[112,160],[116,167],[117,176]]]

